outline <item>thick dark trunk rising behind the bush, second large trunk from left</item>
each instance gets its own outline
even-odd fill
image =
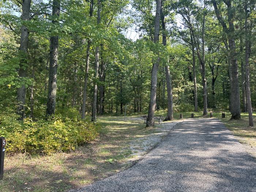
[[[52,15],[57,17],[60,16],[60,0],[53,0]],[[52,23],[57,25],[59,21],[57,19],[53,19]],[[56,35],[50,37],[50,65],[46,116],[55,113],[57,92],[58,47],[59,36]]]

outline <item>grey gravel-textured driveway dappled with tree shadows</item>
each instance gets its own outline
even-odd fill
[[[76,192],[256,192],[256,159],[217,119],[189,119],[135,166]]]

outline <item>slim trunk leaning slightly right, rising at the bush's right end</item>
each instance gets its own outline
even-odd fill
[[[93,16],[93,0],[90,1],[90,17]],[[86,93],[87,93],[87,82],[88,82],[88,72],[89,72],[89,57],[90,57],[90,47],[91,40],[87,42],[87,50],[86,50],[86,69],[84,75],[84,87],[83,87],[83,105],[82,105],[82,116],[81,118],[85,118],[85,106],[86,106]]]

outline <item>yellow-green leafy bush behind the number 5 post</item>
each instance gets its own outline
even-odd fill
[[[73,115],[72,115],[73,114]],[[98,136],[99,125],[80,121],[74,113],[57,115],[48,120],[16,120],[16,115],[0,115],[0,135],[7,139],[7,151],[27,153],[53,153],[73,151],[76,146],[90,142]]]

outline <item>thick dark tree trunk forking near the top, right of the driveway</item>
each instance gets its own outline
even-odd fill
[[[223,0],[227,6],[227,18],[229,23],[229,28],[227,27],[222,15],[219,11],[217,2],[212,0],[214,6],[214,11],[217,16],[219,23],[222,25],[223,31],[227,35],[228,39],[228,53],[229,53],[229,63],[230,63],[230,73],[231,73],[231,93],[230,93],[230,109],[231,109],[231,119],[241,118],[240,109],[240,91],[238,83],[238,64],[237,64],[237,52],[235,43],[235,31],[234,31],[234,10],[230,0]]]

